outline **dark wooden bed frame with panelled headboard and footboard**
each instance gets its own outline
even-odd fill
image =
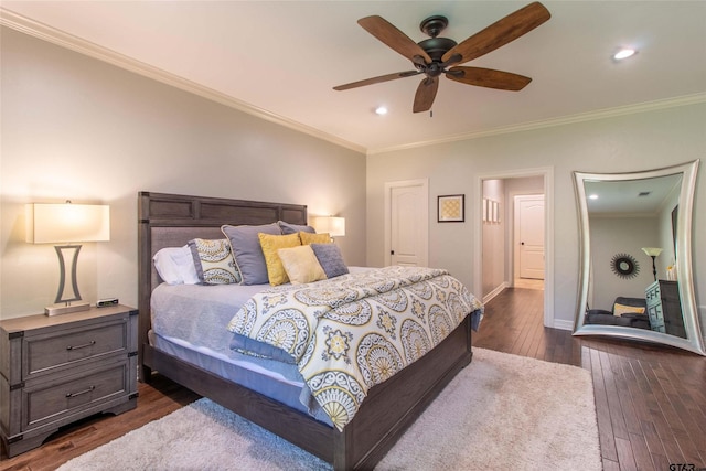
[[[370,389],[339,432],[314,418],[149,345],[152,256],[194,237],[223,238],[222,224],[307,224],[307,206],[140,192],[138,195],[139,379],[159,373],[333,464],[373,469],[397,439],[471,362],[470,315],[424,357]]]

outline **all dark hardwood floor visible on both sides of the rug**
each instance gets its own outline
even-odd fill
[[[706,358],[644,343],[575,338],[543,327],[543,291],[507,289],[485,307],[473,345],[591,372],[603,469],[706,468]],[[165,378],[139,385],[135,410],[60,430],[0,471],[53,470],[69,459],[199,398]],[[4,453],[4,452],[3,452]],[[670,464],[694,467],[670,467]]]

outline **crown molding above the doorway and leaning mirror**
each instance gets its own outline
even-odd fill
[[[483,131],[466,132],[466,133],[449,136],[441,139],[410,142],[410,143],[405,143],[400,146],[393,146],[393,147],[386,147],[386,148],[379,148],[379,149],[368,149],[367,154],[374,156],[378,153],[387,153],[387,152],[394,152],[394,151],[406,150],[406,149],[415,149],[415,148],[420,148],[426,146],[435,146],[439,143],[480,139],[489,136],[500,136],[500,135],[507,135],[512,132],[533,131],[533,130],[543,129],[543,128],[571,125],[576,122],[595,121],[598,119],[614,118],[618,116],[634,115],[638,113],[654,111],[659,109],[675,108],[680,106],[696,105],[696,104],[703,104],[703,103],[706,103],[706,93],[698,93],[694,95],[685,95],[681,97],[641,103],[637,105],[627,105],[627,106],[620,106],[614,108],[599,109],[596,111],[563,116],[559,118],[545,119],[541,121],[522,122],[520,125],[505,126],[502,128],[488,129]]]

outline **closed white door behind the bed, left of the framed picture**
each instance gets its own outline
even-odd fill
[[[386,186],[389,202],[386,260],[389,265],[427,266],[429,203],[426,180]]]

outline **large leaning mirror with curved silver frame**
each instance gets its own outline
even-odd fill
[[[698,163],[574,172],[581,236],[575,335],[641,340],[706,355],[692,275]]]

